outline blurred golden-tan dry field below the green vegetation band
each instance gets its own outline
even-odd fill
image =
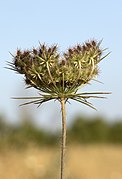
[[[70,145],[66,179],[121,179],[122,146]],[[1,179],[58,179],[59,148],[30,146],[0,153]]]

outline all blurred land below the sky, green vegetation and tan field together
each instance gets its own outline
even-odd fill
[[[121,179],[121,144],[121,120],[76,117],[67,129],[66,179]],[[59,169],[60,131],[0,119],[0,179],[58,179]]]

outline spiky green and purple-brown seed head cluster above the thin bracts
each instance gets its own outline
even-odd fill
[[[17,50],[11,69],[24,74],[25,82],[53,98],[74,98],[79,87],[98,75],[103,50],[95,40],[78,44],[60,55],[57,46],[40,44],[32,50]],[[49,97],[49,96],[48,96]]]

